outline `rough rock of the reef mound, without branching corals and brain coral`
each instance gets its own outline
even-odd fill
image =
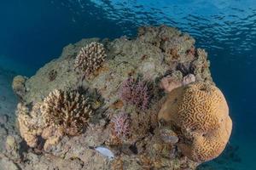
[[[104,55],[104,62],[101,62],[100,67],[90,68],[89,75],[75,68],[78,64],[76,58],[81,54],[79,51],[83,47],[89,47],[91,42],[101,43],[106,56]],[[93,51],[90,52],[95,53]],[[87,68],[86,65],[85,67]],[[18,112],[18,117],[23,116],[29,122],[23,123],[24,127],[20,126],[20,133],[25,139],[22,135],[23,128],[24,133],[37,136],[37,141],[34,141],[37,147],[29,148],[24,153],[26,161],[20,161],[17,165],[24,169],[50,169],[51,166],[61,169],[194,169],[198,162],[189,160],[183,156],[182,150],[177,149],[178,136],[171,133],[171,129],[165,132],[172,134],[173,138],[161,138],[162,130],[157,113],[166,94],[160,88],[160,80],[170,76],[183,82],[183,77],[193,74],[195,82],[213,84],[208,67],[207,53],[195,48],[195,40],[188,34],[167,26],[142,27],[138,36],[132,39],[120,37],[110,42],[90,38],[68,45],[60,58],[44,65],[24,84],[26,91],[21,96],[20,105],[25,105],[28,110],[24,110],[23,115]],[[49,78],[52,71],[56,71],[54,78]],[[130,77],[141,80],[150,94],[145,107],[138,107],[136,102],[120,98],[121,84]],[[194,79],[187,82],[194,82]],[[50,144],[42,140],[49,133],[31,131],[29,126],[39,125],[40,120],[44,120],[44,114],[40,111],[36,112],[38,115],[33,112],[35,105],[42,104],[55,89],[72,92],[81,88],[90,97],[90,106],[94,111],[88,127],[79,131],[76,136],[61,134],[60,139],[50,140]],[[138,94],[132,95],[137,96],[136,99],[140,97]],[[68,105],[73,108],[72,102]],[[62,111],[62,106],[55,106],[51,105],[49,109]],[[117,114],[124,112],[129,117],[129,135],[127,133],[125,138],[117,138],[123,135],[123,131],[122,135],[113,133],[113,129],[116,130],[113,120]],[[42,144],[47,144],[48,147],[40,147]],[[72,165],[76,167],[71,167]]]

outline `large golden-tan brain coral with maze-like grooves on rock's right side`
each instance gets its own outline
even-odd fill
[[[206,82],[174,89],[158,118],[170,122],[179,135],[177,146],[193,161],[212,160],[230,139],[232,121],[224,95]]]

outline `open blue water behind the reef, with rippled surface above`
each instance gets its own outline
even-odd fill
[[[256,169],[255,0],[0,0],[0,67],[31,76],[84,37],[135,36],[175,26],[206,48],[234,130],[222,156],[201,169]]]

